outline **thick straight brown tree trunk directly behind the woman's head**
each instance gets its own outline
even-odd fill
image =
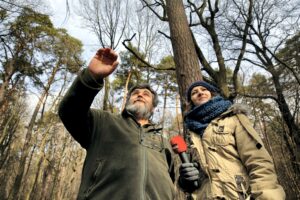
[[[166,11],[180,99],[181,102],[185,102],[185,94],[189,85],[194,81],[202,80],[199,60],[182,0],[166,0]],[[184,111],[185,105],[181,105],[181,108]]]

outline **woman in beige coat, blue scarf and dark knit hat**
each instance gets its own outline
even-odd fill
[[[201,200],[285,199],[272,158],[246,109],[225,100],[204,81],[189,87],[187,100],[185,125],[198,154],[180,166],[179,185]]]

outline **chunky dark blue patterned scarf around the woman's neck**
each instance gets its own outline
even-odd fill
[[[215,96],[205,104],[193,107],[185,115],[185,125],[189,130],[202,137],[211,120],[225,112],[231,105],[231,101],[225,100],[221,96]]]

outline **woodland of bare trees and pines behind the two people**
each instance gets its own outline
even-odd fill
[[[64,1],[66,23],[76,14],[95,47],[120,55],[93,107],[118,113],[127,88],[149,82],[161,96],[153,120],[169,137],[182,134],[188,85],[214,83],[249,107],[287,199],[300,199],[299,0]],[[1,199],[75,199],[80,183],[85,151],[57,107],[89,60],[48,5],[0,0]]]

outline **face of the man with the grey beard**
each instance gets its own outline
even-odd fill
[[[137,118],[148,119],[153,111],[153,94],[148,89],[135,89],[128,100],[126,109]]]

